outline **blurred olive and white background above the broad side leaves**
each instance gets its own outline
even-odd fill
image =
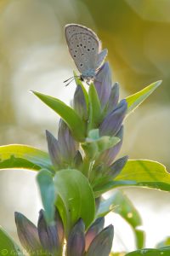
[[[0,145],[24,143],[47,150],[45,129],[57,133],[59,117],[29,90],[71,101],[75,84],[66,88],[63,84],[76,70],[63,33],[67,23],[88,26],[98,34],[109,50],[107,60],[113,80],[121,84],[122,97],[163,80],[126,120],[121,154],[158,160],[168,169],[169,0],[1,0]],[[6,177],[1,174],[2,182]],[[0,214],[3,221],[9,209],[1,190],[0,201],[6,206]]]

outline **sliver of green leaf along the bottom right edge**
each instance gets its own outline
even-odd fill
[[[127,253],[125,256],[169,256],[170,247],[161,247],[160,249],[141,249],[131,253]]]

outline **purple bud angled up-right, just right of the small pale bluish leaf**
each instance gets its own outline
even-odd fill
[[[120,130],[116,133],[116,137],[119,137],[121,141],[117,143],[113,148],[109,148],[105,150],[105,152],[99,156],[99,161],[104,162],[105,166],[111,166],[112,162],[116,158],[116,155],[121,150],[122,137],[123,137],[123,125],[121,126]]]

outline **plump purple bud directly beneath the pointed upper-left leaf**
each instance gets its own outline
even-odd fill
[[[70,162],[73,160],[78,149],[78,143],[74,140],[69,127],[62,119],[59,121],[58,142],[60,152],[65,161]]]

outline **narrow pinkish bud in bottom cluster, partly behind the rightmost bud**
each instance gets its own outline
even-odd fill
[[[101,217],[101,218],[97,218],[94,221],[94,224],[92,224],[89,227],[88,231],[86,232],[86,236],[85,236],[85,239],[86,239],[85,250],[86,251],[88,250],[90,243],[94,240],[94,237],[97,236],[101,230],[103,230],[104,224],[105,224],[105,218]]]

